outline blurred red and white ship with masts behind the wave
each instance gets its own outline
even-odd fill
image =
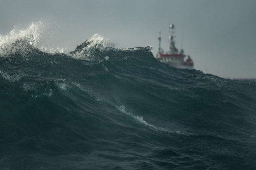
[[[180,51],[175,47],[174,42],[174,24],[169,25],[170,29],[170,36],[169,36],[169,42],[170,42],[170,50],[167,52],[164,52],[164,50],[161,48],[161,32],[159,33],[160,36],[158,38],[159,40],[159,47],[158,47],[158,53],[156,54],[156,59],[158,61],[161,61],[162,63],[166,63],[168,65],[171,65],[172,67],[180,68],[180,69],[194,69],[194,62],[192,58],[189,55],[184,55],[184,50],[181,48]]]

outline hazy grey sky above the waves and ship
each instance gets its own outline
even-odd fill
[[[46,21],[42,44],[76,46],[100,34],[116,47],[161,46],[169,24],[194,68],[223,78],[256,79],[256,0],[0,0],[0,35]]]

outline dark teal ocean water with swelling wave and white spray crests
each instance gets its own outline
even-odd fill
[[[0,36],[0,170],[254,170],[256,81],[156,61],[99,35]]]

